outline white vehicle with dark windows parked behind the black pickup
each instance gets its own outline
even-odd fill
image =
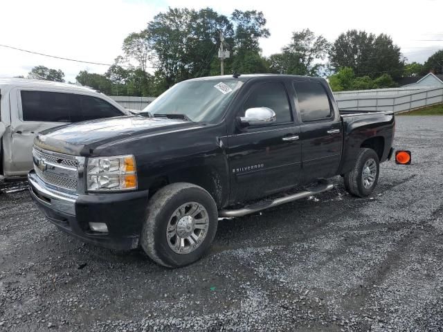
[[[84,86],[0,79],[0,175],[26,176],[39,131],[70,122],[130,115],[111,98]]]

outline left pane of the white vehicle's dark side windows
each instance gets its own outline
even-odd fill
[[[24,121],[71,122],[69,93],[21,91]]]

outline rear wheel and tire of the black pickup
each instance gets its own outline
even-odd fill
[[[377,153],[373,149],[360,149],[354,169],[344,176],[346,191],[356,197],[369,196],[379,181],[379,172],[380,163]]]

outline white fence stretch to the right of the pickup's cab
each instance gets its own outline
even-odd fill
[[[426,89],[379,89],[372,90],[372,93],[371,90],[345,92],[334,93],[338,109],[401,112],[443,102],[443,86]],[[390,94],[385,95],[385,92]]]

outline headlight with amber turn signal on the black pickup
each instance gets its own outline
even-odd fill
[[[89,158],[87,190],[137,189],[136,159],[134,156]]]

